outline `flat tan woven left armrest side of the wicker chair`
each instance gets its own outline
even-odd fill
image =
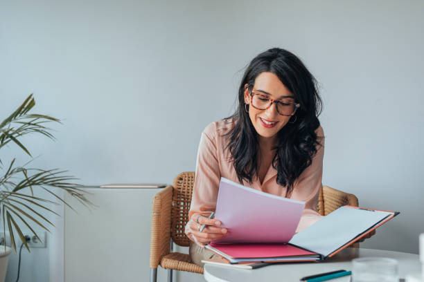
[[[152,230],[150,234],[150,268],[157,268],[162,257],[170,252],[170,220],[173,187],[167,186],[153,197]]]

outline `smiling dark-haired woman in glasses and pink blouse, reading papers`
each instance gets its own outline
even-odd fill
[[[315,78],[298,57],[272,48],[251,61],[236,112],[202,132],[186,225],[194,263],[202,265],[202,259],[214,255],[204,244],[227,234],[219,220],[208,218],[215,211],[221,177],[305,201],[297,232],[321,218],[316,210],[324,157],[320,112]]]

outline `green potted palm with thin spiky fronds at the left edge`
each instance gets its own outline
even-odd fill
[[[18,109],[12,113],[6,120],[0,124],[0,149],[5,147],[10,142],[17,144],[22,150],[25,151],[30,157],[31,154],[24,144],[19,141],[23,135],[30,133],[39,133],[48,138],[54,139],[53,135],[49,132],[51,129],[46,127],[49,122],[60,122],[57,118],[52,118],[48,115],[38,115],[28,113],[35,106],[33,95],[29,95]],[[11,143],[11,144],[12,144]],[[1,155],[0,155],[1,156]],[[29,162],[28,162],[29,163]],[[35,169],[27,168],[28,163],[24,166],[15,166],[15,159],[13,159],[8,166],[3,166],[0,158],[0,219],[3,220],[3,232],[6,234],[6,223],[8,225],[8,232],[10,234],[10,241],[16,253],[16,241],[13,235],[13,229],[19,234],[19,238],[29,251],[24,235],[21,232],[19,223],[15,218],[21,220],[21,225],[26,225],[34,236],[38,235],[33,229],[34,225],[38,225],[49,232],[45,226],[46,223],[53,225],[45,216],[36,209],[44,209],[48,212],[58,215],[48,208],[51,203],[56,204],[51,200],[35,196],[35,189],[44,189],[49,194],[53,194],[55,198],[62,201],[68,207],[60,196],[52,191],[53,187],[63,189],[67,193],[76,197],[80,203],[88,206],[91,204],[81,186],[73,184],[69,181],[76,180],[73,176],[67,176],[67,171],[60,171],[59,169]],[[28,190],[29,189],[29,190]],[[28,221],[30,223],[28,223]],[[44,223],[46,222],[46,223]],[[54,225],[53,225],[54,226]],[[39,238],[38,238],[39,239]],[[6,243],[5,243],[6,246]],[[6,247],[5,247],[6,250]]]

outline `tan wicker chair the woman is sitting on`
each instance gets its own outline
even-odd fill
[[[183,172],[175,178],[172,186],[159,191],[153,198],[152,233],[150,238],[150,281],[156,282],[157,267],[168,270],[168,281],[173,280],[173,270],[203,273],[203,267],[192,263],[188,254],[172,252],[172,244],[188,247],[190,241],[184,234],[188,222],[195,173]],[[358,205],[353,194],[321,188],[317,210],[326,216],[343,205]],[[359,247],[359,243],[352,245]]]

